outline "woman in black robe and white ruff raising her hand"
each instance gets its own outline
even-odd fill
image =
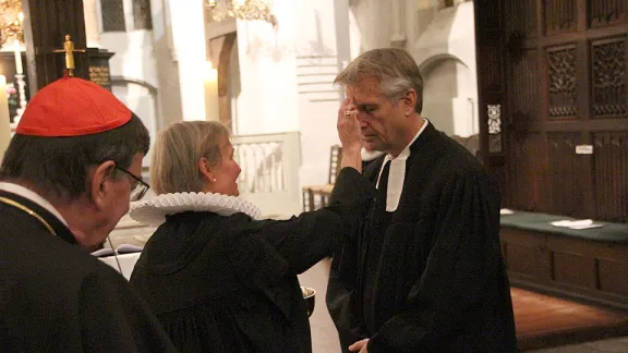
[[[359,134],[355,118],[339,114],[342,167],[352,168],[340,171],[328,207],[289,220],[259,220],[237,197],[240,167],[221,124],[179,122],[159,134],[152,165],[159,196],[134,205],[131,217],[162,223],[131,283],[180,351],[311,351],[297,275],[338,251],[374,197],[359,172]]]

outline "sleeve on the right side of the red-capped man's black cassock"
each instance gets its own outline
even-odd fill
[[[107,265],[87,275],[78,309],[84,352],[176,352],[148,305]]]

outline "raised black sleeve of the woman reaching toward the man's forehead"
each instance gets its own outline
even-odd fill
[[[329,205],[282,221],[265,221],[259,234],[302,273],[325,256],[336,252],[355,234],[375,197],[371,183],[353,168],[343,168]]]

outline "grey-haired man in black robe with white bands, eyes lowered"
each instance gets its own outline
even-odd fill
[[[375,49],[336,78],[371,149],[376,200],[334,256],[327,307],[345,352],[515,352],[495,180],[421,117],[412,57]]]

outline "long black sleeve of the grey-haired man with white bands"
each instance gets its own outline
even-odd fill
[[[499,203],[490,175],[466,171],[446,181],[435,197],[434,245],[407,309],[386,321],[369,352],[432,352],[473,319],[498,271]]]

